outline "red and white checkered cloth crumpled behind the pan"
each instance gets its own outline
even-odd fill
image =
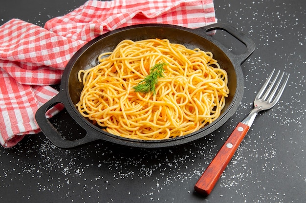
[[[58,93],[49,85],[60,83],[67,62],[87,41],[135,24],[197,28],[215,22],[213,0],[89,0],[44,28],[11,19],[0,26],[0,144],[10,148],[40,131],[35,112]],[[57,105],[46,116],[62,109]]]

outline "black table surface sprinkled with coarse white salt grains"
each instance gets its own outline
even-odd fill
[[[11,18],[44,26],[85,0],[5,0],[0,24]],[[256,43],[241,65],[244,96],[236,114],[196,142],[164,149],[121,147],[107,142],[62,149],[43,133],[16,147],[0,147],[1,203],[305,203],[306,202],[306,1],[215,0],[219,22]],[[217,36],[216,36],[217,37]],[[235,43],[226,40],[233,52]],[[236,124],[253,108],[271,70],[290,73],[279,103],[260,113],[207,197],[194,185]],[[67,113],[55,126],[73,131]],[[70,125],[71,126],[71,125]]]

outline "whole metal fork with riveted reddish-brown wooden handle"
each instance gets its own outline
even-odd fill
[[[257,93],[254,100],[254,109],[250,111],[248,116],[236,126],[236,128],[228,137],[224,145],[220,148],[215,158],[206,168],[202,176],[198,179],[195,185],[195,190],[198,193],[206,196],[210,194],[210,192],[213,190],[214,186],[218,182],[225,167],[228,165],[235,151],[242,142],[245,134],[253,124],[253,121],[258,112],[271,109],[280,99],[288,81],[289,74],[287,74],[287,77],[284,79],[282,86],[280,86],[282,78],[285,74],[283,72],[277,84],[274,86],[280,74],[280,71],[278,71],[273,81],[271,81],[274,71],[275,69],[273,69],[272,73],[269,75],[268,79],[265,81],[262,88]],[[276,92],[278,93],[275,95]]]

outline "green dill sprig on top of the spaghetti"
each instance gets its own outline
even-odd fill
[[[145,78],[139,82],[136,86],[132,87],[135,92],[149,93],[153,92],[153,95],[156,94],[155,87],[158,82],[158,78],[164,77],[164,66],[168,65],[168,63],[158,63],[155,64],[150,69],[150,74],[145,76]]]

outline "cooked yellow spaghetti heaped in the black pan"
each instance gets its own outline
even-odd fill
[[[191,50],[168,39],[123,40],[99,64],[80,70],[78,111],[109,133],[131,139],[183,136],[216,120],[228,96],[227,73],[211,52]],[[156,93],[132,88],[166,63]]]

